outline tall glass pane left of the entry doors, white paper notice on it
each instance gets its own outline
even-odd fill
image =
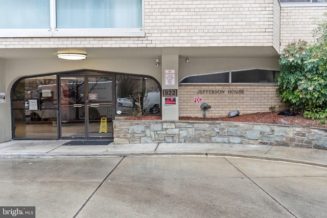
[[[57,138],[55,75],[18,81],[13,87],[12,99],[14,138]]]

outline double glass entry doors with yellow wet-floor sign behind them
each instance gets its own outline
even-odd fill
[[[112,138],[112,77],[60,77],[61,138]]]

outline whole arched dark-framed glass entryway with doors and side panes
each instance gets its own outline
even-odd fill
[[[160,114],[160,97],[148,98],[160,90],[149,76],[93,70],[22,78],[12,88],[13,139],[113,139],[115,116]]]

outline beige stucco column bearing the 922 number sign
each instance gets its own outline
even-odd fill
[[[161,70],[162,70],[162,91],[177,90],[175,96],[171,98],[176,99],[175,104],[170,101],[166,104],[165,96],[162,96],[161,113],[162,120],[177,121],[178,120],[178,55],[162,55],[161,56]]]

